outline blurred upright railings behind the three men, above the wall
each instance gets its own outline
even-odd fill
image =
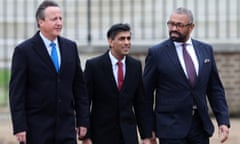
[[[37,30],[35,11],[40,0],[0,1],[0,68],[8,69],[13,48]],[[63,35],[79,48],[102,45],[114,23],[129,23],[136,45],[168,37],[166,21],[177,7],[194,13],[193,37],[214,43],[239,43],[240,0],[58,0],[62,7]],[[97,51],[97,49],[93,49]],[[4,75],[8,83],[7,75]],[[5,84],[4,86],[6,86]],[[3,95],[6,95],[5,92]],[[0,92],[1,102],[1,92]],[[1,105],[1,103],[0,103]]]

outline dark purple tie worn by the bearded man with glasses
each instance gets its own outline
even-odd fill
[[[183,59],[184,59],[186,70],[187,70],[188,80],[190,85],[193,87],[195,85],[196,78],[197,78],[196,70],[195,70],[192,58],[186,50],[186,44],[182,45],[182,50],[183,50]]]

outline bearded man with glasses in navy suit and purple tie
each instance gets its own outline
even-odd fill
[[[229,113],[213,48],[191,38],[195,25],[186,8],[177,8],[167,26],[170,38],[149,49],[144,68],[148,131],[161,144],[209,144],[209,101],[224,143]]]

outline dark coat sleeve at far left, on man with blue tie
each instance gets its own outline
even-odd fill
[[[11,78],[9,84],[9,103],[13,123],[13,133],[27,130],[26,122],[26,83],[27,61],[24,51],[16,47],[12,57]]]

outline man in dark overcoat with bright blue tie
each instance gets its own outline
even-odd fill
[[[17,140],[27,144],[76,144],[89,126],[89,100],[76,43],[60,36],[62,13],[43,1],[39,31],[13,54],[10,107]]]

